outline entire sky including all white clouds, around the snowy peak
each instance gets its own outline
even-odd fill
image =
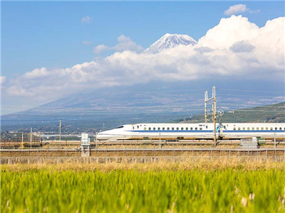
[[[152,78],[282,85],[280,17],[284,1],[1,1],[1,114]],[[165,33],[198,44],[140,54]]]

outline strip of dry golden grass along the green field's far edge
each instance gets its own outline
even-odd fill
[[[112,170],[139,170],[145,171],[181,171],[181,170],[285,170],[285,162],[274,162],[259,158],[219,158],[219,159],[187,159],[182,163],[60,163],[60,164],[14,164],[1,165],[1,171],[21,172],[26,170],[50,171],[95,171],[109,172]]]

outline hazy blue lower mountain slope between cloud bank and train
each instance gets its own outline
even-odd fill
[[[249,109],[279,102],[275,97],[264,96],[259,92],[242,92],[240,90],[222,89],[224,82],[216,82],[217,109],[230,111],[224,113],[223,121],[282,121],[284,107],[264,107],[264,111],[244,111],[235,109]],[[228,84],[229,82],[227,82]],[[235,82],[230,82],[233,87]],[[224,83],[226,84],[226,83]],[[252,84],[252,81],[249,82]],[[204,91],[211,89],[212,82],[150,82],[133,86],[120,86],[97,89],[95,91],[80,92],[63,97],[26,111],[1,116],[1,131],[46,131],[58,132],[59,119],[62,119],[63,133],[94,133],[98,130],[113,129],[122,124],[136,123],[165,123],[179,118],[189,118],[190,122],[202,121],[204,111]],[[249,89],[246,81],[244,89]],[[261,90],[264,84],[257,84]],[[267,85],[269,87],[269,85]],[[270,85],[274,89],[274,85]],[[276,90],[276,89],[275,89]],[[261,90],[262,91],[262,90]],[[266,99],[264,99],[266,97]],[[208,106],[210,107],[210,106]],[[272,108],[272,109],[271,109]],[[257,108],[258,109],[258,108]],[[269,110],[271,109],[271,110]],[[255,110],[255,109],[254,109]],[[273,112],[271,112],[273,111]],[[276,111],[276,112],[275,112]],[[276,113],[276,114],[275,114]],[[255,120],[254,120],[255,119]],[[178,121],[177,121],[178,122]]]

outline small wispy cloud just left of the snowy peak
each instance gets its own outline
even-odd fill
[[[100,54],[100,53],[104,53],[105,50],[113,50],[116,52],[123,52],[124,50],[131,50],[131,51],[135,51],[135,52],[142,52],[142,50],[144,50],[142,48],[142,46],[137,45],[135,42],[133,42],[132,39],[130,39],[130,37],[126,37],[125,35],[120,35],[118,38],[118,44],[112,47],[109,47],[107,45],[97,45],[94,48],[94,53],[96,54]]]

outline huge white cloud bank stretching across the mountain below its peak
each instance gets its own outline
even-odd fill
[[[118,51],[113,55],[65,69],[43,67],[26,72],[11,80],[6,92],[54,99],[84,89],[152,80],[173,82],[221,77],[284,80],[284,23],[285,18],[280,17],[259,28],[242,16],[222,18],[197,45],[178,45],[155,54],[137,53],[137,45],[128,45],[132,40],[121,35],[118,45],[95,48],[98,53]]]

